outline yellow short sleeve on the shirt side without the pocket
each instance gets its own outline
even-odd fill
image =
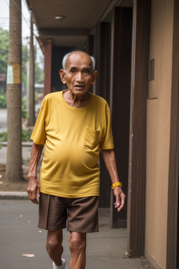
[[[31,140],[34,141],[34,144],[45,145],[46,134],[45,134],[45,107],[41,106],[41,110],[38,113],[38,118],[34,126],[34,130],[31,134]]]

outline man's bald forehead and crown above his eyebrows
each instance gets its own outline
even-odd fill
[[[66,60],[66,68],[71,66],[86,66],[92,68],[92,60],[86,53],[71,53]]]

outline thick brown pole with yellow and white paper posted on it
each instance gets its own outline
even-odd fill
[[[21,0],[9,1],[9,48],[7,76],[8,148],[6,180],[22,180],[22,15]]]

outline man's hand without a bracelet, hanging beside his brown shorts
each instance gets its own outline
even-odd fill
[[[28,174],[28,185],[27,185],[27,193],[28,193],[28,198],[31,200],[31,202],[34,202],[34,204],[38,205],[38,199],[40,198],[40,184],[38,182],[38,179],[36,176],[31,177]]]

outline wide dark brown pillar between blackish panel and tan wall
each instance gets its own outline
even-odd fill
[[[127,250],[130,257],[136,258],[144,255],[145,243],[146,97],[150,1],[134,0],[133,3]]]

